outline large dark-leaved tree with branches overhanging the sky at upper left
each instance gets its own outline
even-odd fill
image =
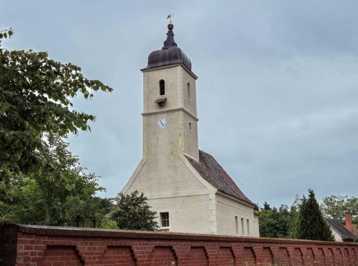
[[[13,30],[2,31],[0,40],[12,35]],[[95,116],[75,110],[71,100],[92,98],[98,90],[112,88],[85,78],[76,65],[49,59],[47,52],[0,48],[0,197],[8,197],[14,179],[48,173],[39,156],[46,149],[44,133],[90,130]]]

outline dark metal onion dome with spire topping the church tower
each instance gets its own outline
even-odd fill
[[[191,70],[189,57],[178,47],[174,41],[174,25],[168,24],[167,40],[161,50],[153,51],[148,56],[148,66],[145,69],[169,66],[173,64],[184,64]]]

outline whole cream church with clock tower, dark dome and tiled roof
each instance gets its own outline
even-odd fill
[[[121,192],[143,192],[164,231],[259,236],[254,203],[198,149],[197,76],[174,41],[173,27],[141,69],[143,159]]]

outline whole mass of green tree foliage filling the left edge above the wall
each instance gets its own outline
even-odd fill
[[[0,44],[12,29],[0,32]],[[112,91],[81,68],[48,58],[46,52],[0,48],[0,220],[75,225],[76,218],[104,218],[111,199],[95,194],[104,188],[87,174],[61,137],[90,129],[95,116],[73,109],[71,100],[92,91]]]

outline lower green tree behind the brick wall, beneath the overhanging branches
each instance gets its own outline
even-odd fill
[[[0,200],[0,220],[47,225],[76,225],[76,218],[95,216],[103,221],[113,209],[111,199],[95,197],[104,188],[99,177],[86,174],[79,158],[59,136],[45,135],[39,153],[44,169],[27,177],[13,176],[9,198]],[[4,183],[0,183],[4,186]]]

